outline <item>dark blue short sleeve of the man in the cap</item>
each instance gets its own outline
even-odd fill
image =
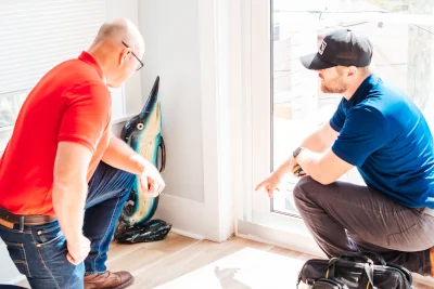
[[[357,107],[346,116],[332,150],[346,162],[361,167],[387,140],[386,122],[381,113],[370,107]]]

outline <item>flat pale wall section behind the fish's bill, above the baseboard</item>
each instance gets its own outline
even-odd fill
[[[164,194],[204,201],[197,0],[139,2],[146,43],[142,94],[161,77],[167,162]]]

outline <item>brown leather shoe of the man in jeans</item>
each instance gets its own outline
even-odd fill
[[[124,289],[132,285],[135,277],[128,272],[105,272],[85,276],[85,289]]]

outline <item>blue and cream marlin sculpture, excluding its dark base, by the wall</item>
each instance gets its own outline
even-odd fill
[[[162,172],[166,165],[166,149],[162,131],[162,111],[158,102],[159,76],[156,78],[150,96],[142,111],[128,120],[122,132],[120,139],[128,143],[135,152],[158,167]],[[158,161],[158,156],[161,159]],[[124,206],[119,218],[122,226],[117,233],[128,226],[140,225],[152,219],[158,206],[159,197],[146,197],[141,191],[137,176],[130,191],[129,199]],[[116,235],[116,234],[115,234]]]

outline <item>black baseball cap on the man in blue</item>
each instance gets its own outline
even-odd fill
[[[299,57],[307,69],[319,70],[333,66],[365,67],[371,63],[372,43],[369,39],[350,29],[328,34],[318,52]]]

